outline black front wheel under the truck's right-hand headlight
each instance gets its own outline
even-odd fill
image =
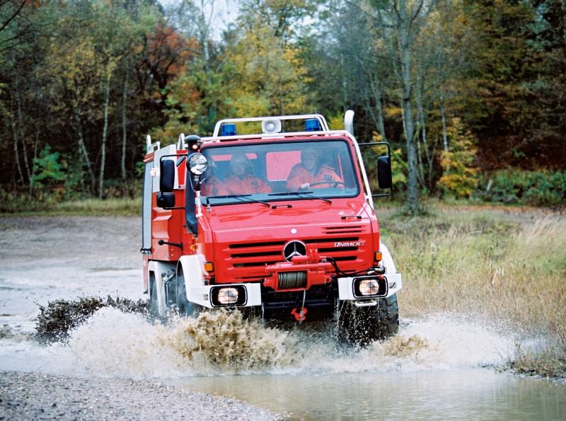
[[[369,345],[399,331],[397,295],[378,299],[376,306],[357,307],[352,301],[340,302],[338,333],[345,342]]]

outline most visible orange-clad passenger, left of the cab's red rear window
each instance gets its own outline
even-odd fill
[[[224,180],[224,186],[230,195],[271,192],[270,186],[265,181],[253,175],[252,163],[243,152],[233,154],[228,174]]]

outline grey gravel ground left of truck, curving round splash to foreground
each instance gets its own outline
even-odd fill
[[[276,418],[238,400],[153,381],[45,374],[16,355],[9,361],[13,344],[29,340],[38,304],[107,294],[144,298],[140,230],[139,218],[129,217],[0,218],[0,420]]]

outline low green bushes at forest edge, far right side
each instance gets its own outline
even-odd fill
[[[492,171],[481,175],[475,195],[487,202],[560,206],[566,204],[566,171]]]

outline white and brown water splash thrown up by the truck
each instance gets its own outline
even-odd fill
[[[462,369],[502,364],[513,343],[449,315],[412,321],[395,337],[360,348],[338,344],[333,328],[267,328],[238,312],[161,325],[105,307],[71,330],[67,343],[3,340],[0,369],[130,379]]]

